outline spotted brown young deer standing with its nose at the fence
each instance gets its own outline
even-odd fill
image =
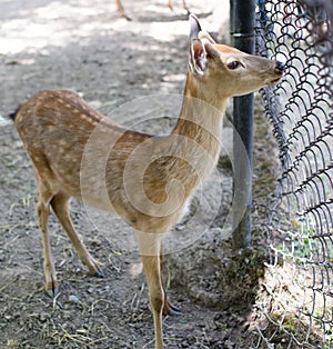
[[[228,100],[278,82],[283,64],[218,44],[190,16],[189,69],[180,118],[170,136],[122,128],[67,90],[42,91],[12,114],[38,185],[46,290],[58,293],[48,218],[50,206],[89,272],[103,277],[73,228],[70,197],[120,215],[137,233],[152,306],[155,348],[162,313],[174,313],[161,279],[161,241],[182,218],[220,152]]]

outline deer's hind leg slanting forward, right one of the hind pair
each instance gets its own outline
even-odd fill
[[[75,228],[73,227],[72,220],[70,218],[69,209],[68,209],[68,201],[69,196],[59,191],[56,196],[53,196],[51,200],[52,209],[59,219],[62,228],[68,233],[73,247],[84,266],[88,267],[89,273],[95,277],[103,278],[104,272],[98,265],[98,262],[90,256],[88,252],[80,235],[77,232]]]

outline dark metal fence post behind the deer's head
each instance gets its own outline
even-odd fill
[[[253,54],[255,44],[255,0],[230,1],[230,18],[233,21],[231,23],[233,44],[235,48]],[[241,200],[246,200],[245,213],[243,210],[240,211],[238,207],[233,210],[232,245],[234,249],[240,249],[251,245],[253,93],[234,98],[233,126],[233,191],[234,197],[241,198]],[[243,156],[244,148],[246,157]],[[238,202],[233,206],[238,206]]]

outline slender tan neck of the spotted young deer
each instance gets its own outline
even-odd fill
[[[169,180],[182,183],[184,198],[193,193],[218,162],[226,102],[226,99],[206,98],[188,79],[178,124],[164,143],[172,154],[167,166]]]

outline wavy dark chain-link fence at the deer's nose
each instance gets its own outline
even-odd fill
[[[258,51],[286,74],[262,91],[279,144],[254,348],[333,348],[332,0],[259,0]]]

